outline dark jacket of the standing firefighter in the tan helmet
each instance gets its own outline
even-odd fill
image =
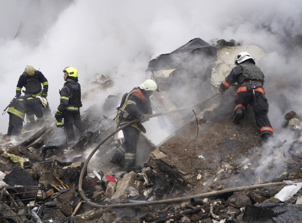
[[[43,85],[43,91],[42,91]],[[32,96],[41,96],[46,98],[48,92],[48,81],[41,71],[35,70],[33,76],[28,76],[25,72],[21,74],[18,80],[16,95],[21,95],[22,87],[25,87],[25,94]]]

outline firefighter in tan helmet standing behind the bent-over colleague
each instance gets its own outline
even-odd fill
[[[25,87],[25,95],[31,94],[33,97],[41,96],[47,98],[48,81],[41,71],[37,71],[31,65],[26,65],[23,74],[19,77],[16,88],[16,98],[21,97],[22,87]],[[43,109],[43,114],[44,116],[51,115],[49,104]]]

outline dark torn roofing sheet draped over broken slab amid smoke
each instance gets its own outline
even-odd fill
[[[146,71],[152,73],[159,89],[169,89],[172,101],[182,107],[207,96],[210,66],[216,60],[216,53],[216,47],[195,38],[171,53],[149,61]]]

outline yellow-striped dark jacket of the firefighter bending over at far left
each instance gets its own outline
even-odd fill
[[[7,112],[16,115],[23,121],[25,114],[27,114],[31,123],[36,122],[34,120],[34,115],[36,115],[38,121],[44,121],[40,99],[31,95],[25,95],[19,99],[14,98],[8,107]]]

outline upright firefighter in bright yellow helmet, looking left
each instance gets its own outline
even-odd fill
[[[56,127],[64,127],[66,131],[67,144],[73,144],[76,136],[73,125],[81,133],[87,130],[87,124],[81,120],[80,107],[81,102],[81,85],[78,83],[78,71],[73,67],[66,67],[63,70],[64,83],[60,93],[60,105],[55,114],[57,120]],[[64,118],[64,125],[63,125]]]

